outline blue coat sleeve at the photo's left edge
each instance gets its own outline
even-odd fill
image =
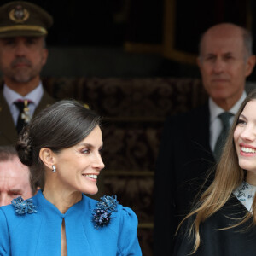
[[[10,255],[9,229],[6,216],[0,208],[0,255]]]

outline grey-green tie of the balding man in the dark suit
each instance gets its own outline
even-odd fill
[[[221,120],[222,123],[222,131],[218,136],[217,142],[214,147],[214,156],[216,160],[219,160],[220,155],[222,154],[222,150],[224,148],[224,143],[226,138],[228,137],[230,131],[230,117],[233,116],[233,113],[224,112],[218,115],[218,118]]]

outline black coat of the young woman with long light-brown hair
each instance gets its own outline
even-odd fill
[[[229,201],[212,217],[201,224],[201,245],[192,256],[253,256],[256,255],[256,228],[252,218],[229,230],[218,230],[237,224],[238,218],[244,217],[246,208],[232,196]],[[235,220],[236,219],[236,220]],[[177,238],[174,256],[185,256],[191,253],[194,240],[189,240],[184,223]]]

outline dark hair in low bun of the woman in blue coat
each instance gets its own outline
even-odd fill
[[[55,153],[70,148],[87,137],[100,121],[100,116],[75,101],[56,102],[38,113],[20,132],[16,144],[20,161],[30,166],[32,183],[44,189],[41,148],[50,148]]]

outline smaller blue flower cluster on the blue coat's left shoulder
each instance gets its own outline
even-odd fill
[[[13,207],[15,207],[15,212],[19,215],[37,212],[37,207],[33,205],[32,198],[24,200],[21,196],[19,196],[13,199],[11,204]]]

